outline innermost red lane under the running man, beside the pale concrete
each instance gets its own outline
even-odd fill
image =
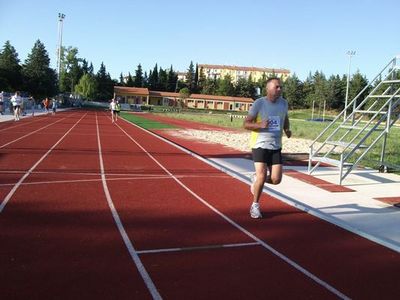
[[[143,144],[150,152],[159,147],[156,142]],[[206,144],[204,147],[207,148]],[[172,173],[182,173],[176,160],[161,155],[158,159]],[[183,170],[189,165],[184,163]],[[268,195],[263,195],[262,202],[266,206],[266,218],[254,222],[247,215],[248,186],[238,181],[223,177],[211,180],[188,177],[182,181],[235,222],[346,295],[363,299],[400,298],[396,283],[396,274],[400,272],[398,253]]]

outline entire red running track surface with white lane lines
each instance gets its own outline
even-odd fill
[[[103,112],[1,123],[1,299],[400,299],[397,252],[250,198]]]

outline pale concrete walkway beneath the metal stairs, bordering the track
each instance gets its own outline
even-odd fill
[[[253,162],[245,158],[210,158],[211,163],[249,183]],[[285,166],[287,173],[279,185],[264,186],[264,192],[346,230],[375,241],[400,253],[400,208],[386,203],[391,198],[400,203],[400,176],[360,169],[351,173],[343,186],[348,192],[330,192],[310,182],[287,175],[289,170],[307,176],[305,166]],[[338,170],[325,167],[313,177],[334,185]],[[250,198],[250,193],[249,193]],[[261,203],[268,210],[268,203]]]

